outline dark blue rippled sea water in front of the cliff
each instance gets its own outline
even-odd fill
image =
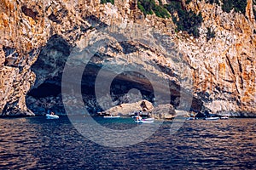
[[[165,122],[144,142],[125,148],[85,139],[66,116],[0,121],[3,169],[256,168],[256,119],[188,121],[173,135],[172,122]],[[120,129],[137,126],[127,119],[99,122]]]

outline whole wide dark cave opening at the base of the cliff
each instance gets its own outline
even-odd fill
[[[73,74],[71,72],[71,86],[61,87],[63,86],[61,84],[63,69],[67,58],[71,54],[71,50],[71,45],[63,37],[54,35],[49,38],[49,42],[42,48],[37,61],[32,65],[32,71],[37,75],[37,79],[35,86],[26,95],[26,105],[36,114],[40,115],[42,112],[52,110],[64,115],[66,111],[62,103],[61,88],[72,88],[72,83],[80,84],[82,91],[78,93],[82,94],[84,107],[90,114],[102,111],[96,99],[95,83],[99,71],[102,70],[102,60],[108,59],[109,56],[96,53],[85,66],[81,82],[72,82]],[[81,55],[84,55],[83,52],[81,52]],[[80,65],[81,63],[74,65],[73,71],[77,71],[77,67]],[[107,71],[107,75],[109,72]],[[114,77],[113,80],[108,80],[108,78],[104,77],[102,83],[104,81],[112,81],[110,91],[107,93],[111,95],[114,105],[137,102],[138,100],[136,101],[136,99],[147,99],[155,105],[153,85],[139,72],[126,71]],[[171,96],[166,97],[166,99],[161,98],[160,100],[163,103],[170,103],[171,100],[171,104],[176,107],[179,104],[179,87],[174,82],[169,83],[169,86],[173,88],[170,88]],[[160,93],[166,92],[161,90]],[[125,96],[128,94],[131,95],[131,100],[125,99]],[[70,96],[70,98],[70,100],[74,100],[75,97]],[[193,104],[195,105],[196,103],[194,102]]]

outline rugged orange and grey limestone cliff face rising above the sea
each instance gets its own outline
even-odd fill
[[[108,65],[109,71],[139,67],[139,71],[166,80],[167,85],[155,85],[163,89],[160,94],[170,88],[171,99],[157,103],[157,96],[152,94],[155,87],[143,74],[134,71],[128,76],[120,75],[113,82],[116,105],[125,103],[121,94],[137,88],[141,89],[143,99],[157,105],[171,103],[177,110],[183,110],[183,105],[191,100],[190,111],[210,109],[219,114],[255,116],[255,4],[247,0],[246,16],[234,11],[225,13],[217,4],[205,1],[192,1],[186,8],[202,14],[198,38],[176,32],[172,19],[145,17],[131,0],[116,0],[114,5],[101,4],[100,0],[3,0],[0,115],[33,115],[38,107],[40,114],[44,109],[61,106],[61,94],[55,92],[63,88],[61,75],[67,59],[80,54],[80,60],[73,62],[82,65],[88,48],[99,44],[82,81],[84,104],[90,111],[100,108],[93,94],[95,79],[103,65]],[[215,31],[215,37],[209,40],[207,28]],[[42,88],[45,84],[47,90]],[[183,98],[189,94],[190,97]],[[50,105],[41,105],[45,101]]]

